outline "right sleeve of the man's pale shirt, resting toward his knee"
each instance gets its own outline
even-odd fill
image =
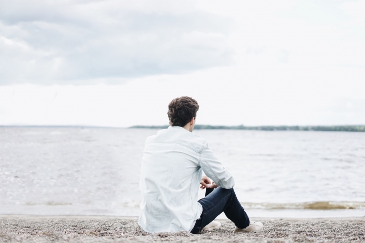
[[[229,189],[234,186],[234,179],[215,156],[207,144],[203,146],[200,159],[200,167],[206,176],[214,181],[215,184]]]

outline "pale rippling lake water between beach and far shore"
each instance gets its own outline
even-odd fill
[[[0,214],[138,216],[144,140],[156,132],[0,127]],[[250,217],[365,216],[365,133],[194,133]]]

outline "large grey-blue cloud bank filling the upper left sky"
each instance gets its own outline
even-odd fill
[[[0,85],[90,84],[232,63],[231,20],[193,1],[0,1]]]

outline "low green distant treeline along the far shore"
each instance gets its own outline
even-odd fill
[[[165,129],[168,126],[133,126],[130,128]],[[230,129],[230,130],[261,130],[261,131],[336,131],[365,132],[365,126],[211,126],[195,125],[194,129]]]

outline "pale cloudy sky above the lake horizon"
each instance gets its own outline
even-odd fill
[[[0,125],[365,125],[365,0],[0,0]]]

